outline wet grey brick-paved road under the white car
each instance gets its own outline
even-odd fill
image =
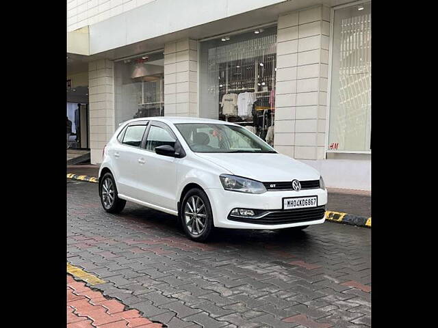
[[[189,241],[175,217],[128,203],[105,213],[97,184],[68,180],[67,260],[92,286],[167,327],[370,327],[371,230],[220,230]],[[166,327],[166,326],[164,326]]]

